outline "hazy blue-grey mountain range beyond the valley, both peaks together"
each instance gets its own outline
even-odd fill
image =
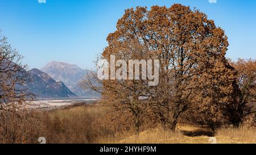
[[[80,87],[79,82],[87,72],[77,65],[52,61],[40,70],[28,70],[31,82],[27,88],[36,98],[100,97],[99,93]]]

